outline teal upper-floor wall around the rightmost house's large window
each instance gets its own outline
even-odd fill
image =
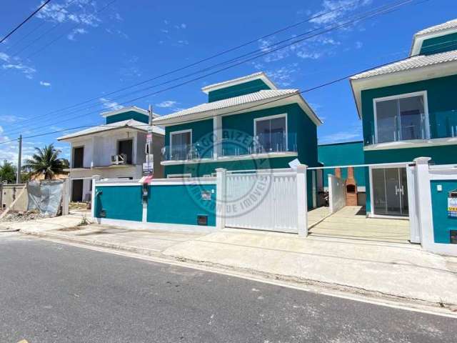
[[[457,125],[457,75],[362,91],[363,141],[371,140],[374,129],[373,99],[427,91],[431,138],[451,136]]]

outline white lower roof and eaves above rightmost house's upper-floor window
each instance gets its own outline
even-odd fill
[[[448,54],[449,52],[450,51],[444,52],[442,54]],[[454,51],[454,53],[457,54],[457,50]],[[430,56],[431,55],[423,57]],[[421,56],[413,57],[413,59],[420,57]],[[363,90],[375,89],[385,86],[394,86],[398,84],[407,84],[409,82],[423,81],[428,79],[436,79],[437,77],[451,76],[455,74],[457,74],[457,59],[451,61],[443,61],[441,63],[436,64],[428,64],[426,66],[418,66],[411,69],[392,71],[388,74],[376,74],[373,76],[366,76],[363,78],[351,77],[349,81],[351,83],[353,96],[356,101],[358,116],[359,118],[361,118],[361,91]]]

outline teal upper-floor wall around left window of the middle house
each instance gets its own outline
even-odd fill
[[[213,133],[213,119],[193,121],[191,123],[179,124],[165,127],[165,145],[170,146],[170,133],[181,130],[192,130],[192,143],[199,144],[201,156],[213,156],[213,143],[211,141]]]

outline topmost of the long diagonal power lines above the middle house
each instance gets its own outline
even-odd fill
[[[357,3],[361,2],[361,1],[362,1],[362,0],[356,0],[356,1],[351,2],[350,4],[345,4],[345,5],[343,5],[343,6],[336,7],[335,9],[332,9],[332,10],[330,10],[330,11],[322,12],[321,14],[316,14],[315,16],[310,16],[310,17],[308,17],[307,19],[304,19],[303,21],[299,21],[299,22],[296,23],[296,24],[291,24],[291,25],[289,25],[289,26],[283,27],[282,29],[278,29],[278,30],[276,30],[276,31],[273,31],[271,34],[266,34],[266,35],[261,36],[261,37],[258,37],[258,38],[256,38],[256,39],[252,39],[251,41],[246,41],[246,42],[243,43],[243,44],[240,44],[240,45],[238,45],[238,46],[234,46],[234,47],[232,47],[232,48],[230,48],[230,49],[226,49],[225,51],[222,51],[222,52],[219,52],[218,54],[214,54],[214,55],[212,55],[212,56],[206,57],[205,59],[201,59],[201,60],[196,61],[196,62],[193,62],[193,63],[191,63],[191,64],[187,64],[186,66],[182,66],[182,67],[180,67],[180,68],[178,68],[178,69],[174,69],[174,70],[171,70],[171,71],[167,71],[166,73],[161,74],[161,75],[159,75],[159,76],[154,76],[154,77],[152,77],[151,79],[147,79],[147,80],[141,81],[141,82],[139,82],[139,83],[132,84],[132,85],[130,85],[130,86],[126,86],[126,87],[121,88],[121,89],[118,89],[118,90],[116,90],[116,91],[111,91],[111,92],[109,92],[108,94],[101,94],[100,96],[110,96],[110,95],[112,95],[112,94],[116,94],[116,93],[119,93],[119,92],[121,92],[121,91],[124,91],[124,90],[127,90],[127,89],[134,88],[134,87],[136,87],[136,86],[141,86],[141,84],[146,84],[147,82],[154,81],[154,80],[156,80],[156,79],[160,79],[160,78],[162,78],[162,77],[164,77],[164,76],[169,76],[169,75],[171,75],[171,74],[175,74],[175,73],[178,72],[178,71],[182,71],[182,70],[184,70],[184,69],[188,69],[188,68],[190,68],[190,67],[192,67],[192,66],[196,66],[196,65],[198,65],[198,64],[201,64],[201,63],[203,63],[203,62],[205,62],[205,61],[209,61],[209,60],[211,60],[211,59],[214,59],[214,58],[216,58],[216,57],[222,56],[222,55],[224,55],[224,54],[228,54],[228,53],[231,52],[231,51],[235,51],[235,50],[237,50],[237,49],[241,49],[241,48],[244,47],[244,46],[248,46],[249,44],[255,43],[256,41],[258,41],[258,40],[260,40],[260,39],[266,39],[266,38],[268,38],[268,37],[270,37],[270,36],[273,36],[273,35],[278,34],[278,33],[280,33],[280,32],[286,31],[286,30],[291,29],[291,28],[293,28],[293,27],[299,26],[299,25],[304,24],[304,23],[306,23],[306,22],[308,22],[308,21],[311,21],[311,20],[313,20],[313,19],[321,18],[322,16],[326,16],[326,15],[328,15],[328,14],[333,13],[334,11],[338,11],[338,10],[340,10],[340,9],[346,8],[346,7],[351,6],[351,5],[353,5],[353,4],[357,4]],[[273,45],[274,45],[274,44],[273,44]],[[87,104],[88,102],[91,102],[91,101],[94,101],[94,100],[99,100],[99,97],[100,97],[100,96],[96,96],[96,97],[94,97],[94,98],[91,98],[91,99],[88,99],[88,100],[85,100],[85,101],[81,101],[81,102],[79,102],[78,104],[74,104],[74,105],[71,105],[71,106],[67,106],[67,107],[64,107],[64,108],[61,108],[61,109],[56,109],[56,110],[51,111],[51,112],[49,112],[49,113],[47,113],[47,114],[44,114],[44,115],[42,115],[42,116],[46,116],[46,115],[49,115],[49,114],[54,114],[54,113],[57,113],[57,112],[60,112],[60,111],[65,111],[66,109],[71,109],[71,108],[76,107],[76,106],[79,106],[79,105],[81,105],[81,104]],[[39,117],[42,117],[42,116],[39,116]],[[35,119],[37,119],[37,118],[38,118],[38,117],[36,117]],[[24,121],[26,121],[26,120],[24,120]],[[21,122],[21,121],[19,121],[19,122]]]

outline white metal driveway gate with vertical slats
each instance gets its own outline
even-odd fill
[[[226,175],[226,227],[298,232],[296,172]]]

